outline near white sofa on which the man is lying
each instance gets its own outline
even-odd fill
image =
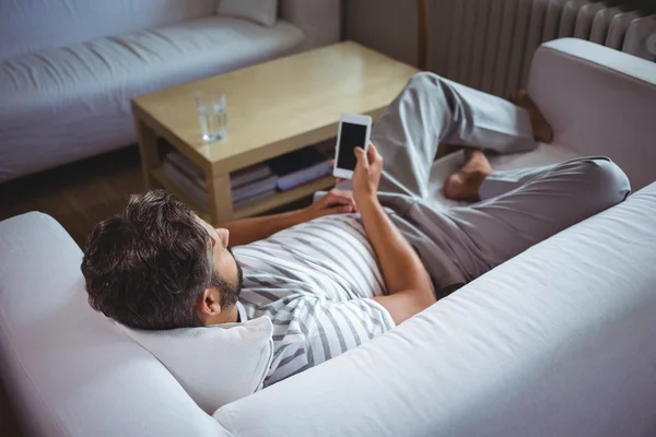
[[[557,144],[499,165],[604,153],[640,191],[213,416],[89,307],[82,253],[51,217],[1,222],[0,371],[21,423],[35,436],[655,435],[656,66],[562,39],[538,50],[529,91]],[[436,163],[436,186],[457,158]]]

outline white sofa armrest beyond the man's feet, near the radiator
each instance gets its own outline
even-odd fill
[[[656,180],[656,63],[582,39],[557,39],[536,51],[528,92],[557,143],[611,157],[634,190]]]

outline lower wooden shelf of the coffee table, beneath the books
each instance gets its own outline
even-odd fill
[[[171,179],[168,179],[168,177],[164,174],[162,167],[151,168],[150,172],[152,177],[162,186],[162,188],[164,188],[166,191],[171,192],[173,196],[175,196],[176,198],[191,206],[194,210],[196,210],[196,212],[203,220],[211,221],[208,210],[202,205],[198,204],[198,202],[196,202],[194,199],[187,196],[181,189],[178,188],[177,185],[175,185]],[[239,220],[261,214],[269,210],[283,206],[295,200],[307,198],[316,191],[328,190],[333,186],[335,178],[332,176],[327,176],[321,179],[304,184],[300,187],[293,188],[288,191],[276,192],[271,196],[259,198],[250,202],[245,202],[233,210],[232,220]]]

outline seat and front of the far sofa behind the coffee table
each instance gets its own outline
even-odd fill
[[[283,21],[211,16],[0,62],[0,181],[129,144],[133,96],[273,59],[302,42]]]

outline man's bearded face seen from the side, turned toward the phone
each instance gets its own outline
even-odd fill
[[[202,224],[210,237],[214,240],[212,255],[214,261],[214,272],[212,274],[211,286],[216,288],[221,295],[221,306],[224,309],[232,308],[242,291],[243,272],[241,265],[235,260],[229,246],[230,232],[224,228],[214,228],[200,217],[196,220]]]

